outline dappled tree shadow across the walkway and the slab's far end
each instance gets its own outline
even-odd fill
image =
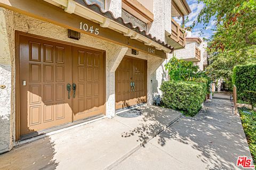
[[[189,157],[191,158],[191,154],[196,153],[193,157],[201,160],[206,169],[238,168],[236,167],[237,157],[251,157],[251,155],[241,121],[237,115],[232,114],[229,96],[215,95],[213,100],[205,101],[204,105],[204,108],[195,117],[182,116],[180,120],[159,133],[150,142],[165,152],[170,151],[174,157],[175,154],[172,150],[166,150],[166,147],[181,152],[184,151],[182,146],[188,145],[196,152],[182,153],[185,154],[183,159],[187,160]],[[154,130],[162,127],[163,123],[157,120],[165,117],[163,111],[162,108],[154,108],[155,114],[146,114],[142,118],[143,123],[140,124],[140,127],[134,128],[130,132],[124,132],[123,137],[130,137],[137,133],[139,134],[138,140],[141,141],[148,139],[148,135],[155,135]],[[177,143],[179,144],[177,145]],[[180,158],[178,154],[177,158]]]

